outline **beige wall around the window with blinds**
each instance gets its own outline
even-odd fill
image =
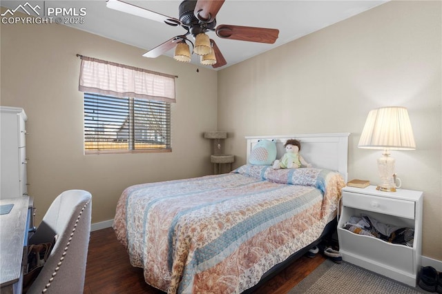
[[[37,224],[63,190],[93,195],[93,223],[113,219],[122,190],[132,184],[211,173],[210,142],[216,129],[217,73],[170,57],[147,59],[146,50],[59,25],[1,25],[1,105],[28,115],[29,194]],[[80,53],[178,75],[172,106],[172,153],[83,155]],[[198,87],[193,85],[198,84]]]

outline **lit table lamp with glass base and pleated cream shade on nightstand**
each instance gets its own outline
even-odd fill
[[[384,107],[371,110],[365,121],[358,148],[382,149],[378,158],[381,184],[377,190],[396,192],[394,158],[390,150],[414,150],[412,125],[405,107]]]

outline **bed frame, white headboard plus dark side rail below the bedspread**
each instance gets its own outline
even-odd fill
[[[305,161],[312,164],[316,168],[327,168],[329,170],[336,170],[340,173],[345,182],[347,182],[347,154],[348,154],[348,137],[349,133],[326,133],[326,134],[305,134],[305,135],[273,135],[273,136],[247,136],[247,164],[249,163],[249,155],[253,146],[260,139],[274,139],[276,141],[276,148],[278,155],[276,158],[282,157],[285,153],[284,144],[287,139],[298,139],[301,142],[300,154],[304,157]],[[317,246],[320,242],[334,239],[332,235],[336,234],[337,221],[336,218],[329,222],[316,241],[309,244],[300,251],[293,253],[284,262],[276,264],[267,273],[262,275],[258,284],[252,288],[247,289],[244,293],[253,293],[257,288],[262,286],[265,282],[272,277],[280,273],[284,268],[293,263],[296,259],[299,259],[310,248]]]

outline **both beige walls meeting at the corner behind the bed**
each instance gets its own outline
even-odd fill
[[[229,131],[226,149],[236,166],[245,162],[245,135],[352,133],[349,177],[377,184],[381,153],[357,148],[365,118],[372,108],[405,106],[417,150],[392,156],[404,188],[424,191],[423,255],[442,260],[441,43],[439,1],[386,3],[199,74],[195,66],[146,59],[140,48],[64,26],[1,25],[0,104],[23,107],[29,117],[28,178],[37,221],[62,190],[84,188],[94,197],[94,223],[113,218],[126,186],[211,173],[202,132],[217,124]],[[173,153],[83,155],[77,53],[180,76]]]

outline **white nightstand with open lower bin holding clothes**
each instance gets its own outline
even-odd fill
[[[381,192],[376,186],[343,188],[338,222],[339,251],[343,260],[391,279],[416,286],[422,251],[422,192],[398,189]],[[383,224],[414,228],[413,247],[392,244],[344,229],[352,216],[369,215]]]

